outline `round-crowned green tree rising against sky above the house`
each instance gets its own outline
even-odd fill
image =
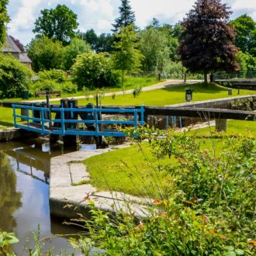
[[[57,5],[55,9],[43,9],[36,19],[33,33],[45,35],[67,44],[78,28],[78,16],[66,5]]]

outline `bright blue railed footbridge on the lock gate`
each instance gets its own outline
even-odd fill
[[[99,125],[122,125],[122,126],[134,126],[137,128],[138,125],[144,125],[144,106],[141,106],[140,109],[136,108],[122,108],[122,109],[81,109],[73,108],[72,105],[70,108],[63,107],[38,107],[38,106],[23,106],[13,104],[13,118],[14,126],[16,128],[21,128],[24,130],[33,131],[36,133],[42,133],[43,135],[57,134],[57,135],[83,135],[83,136],[112,136],[112,137],[125,137],[126,134],[120,132],[119,130],[99,130]],[[26,109],[26,116],[22,114],[17,114],[17,109]],[[40,112],[40,118],[35,117],[35,112]],[[60,118],[51,119],[51,113],[59,113]],[[88,112],[92,113],[93,119],[73,119],[75,112]],[[102,113],[118,113],[118,114],[130,114],[133,116],[133,119],[128,120],[100,120],[99,114]],[[139,115],[140,114],[140,120]],[[65,116],[70,116],[71,119],[65,118]],[[21,118],[26,121],[26,123],[18,123],[17,118]],[[61,123],[60,126],[52,126],[51,123]],[[85,124],[89,126],[94,126],[95,130],[81,130],[74,128],[74,126],[68,127],[67,124]]]

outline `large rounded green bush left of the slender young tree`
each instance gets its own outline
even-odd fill
[[[115,86],[119,82],[118,74],[111,70],[109,55],[92,52],[78,55],[72,66],[72,76],[78,89]]]

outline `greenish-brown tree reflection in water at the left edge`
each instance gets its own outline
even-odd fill
[[[16,191],[16,173],[9,157],[0,152],[0,229],[12,232],[16,220],[12,216],[22,206],[21,192]]]

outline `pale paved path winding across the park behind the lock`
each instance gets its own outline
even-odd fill
[[[178,80],[178,79],[168,79],[167,81],[163,81],[161,83],[158,83],[156,85],[150,85],[147,87],[143,87],[141,90],[142,92],[148,92],[148,91],[154,91],[157,89],[162,89],[162,88],[169,88],[169,87],[176,87],[176,86],[187,86],[187,85],[192,85],[195,83],[198,83],[202,80],[189,80],[186,83],[184,83],[183,80]],[[116,95],[123,95],[123,91],[119,92],[114,92]],[[125,94],[130,94],[133,93],[133,89],[126,90],[124,91]],[[111,96],[112,92],[106,92],[104,96]],[[87,96],[74,96],[74,97],[66,97],[67,99],[85,99]],[[89,95],[88,98],[94,98],[94,95]],[[50,99],[50,102],[56,102],[59,101],[61,98],[54,98]],[[36,100],[31,100],[31,101],[26,101],[26,102],[46,102],[46,99],[36,99]]]

